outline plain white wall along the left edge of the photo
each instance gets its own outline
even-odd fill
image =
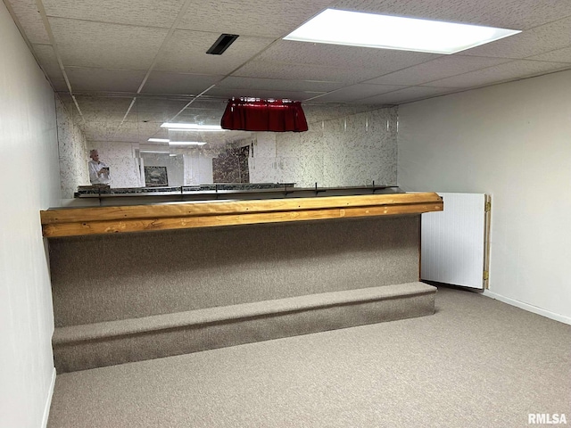
[[[0,2],[0,426],[45,423],[54,317],[39,210],[60,202],[55,99]]]

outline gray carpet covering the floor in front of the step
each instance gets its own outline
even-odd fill
[[[49,428],[571,424],[571,326],[440,288],[436,313],[60,374]]]

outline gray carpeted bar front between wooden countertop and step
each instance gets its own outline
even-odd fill
[[[51,239],[55,325],[418,281],[419,217]]]

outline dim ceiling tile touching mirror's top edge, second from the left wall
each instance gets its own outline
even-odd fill
[[[74,91],[135,93],[145,71],[107,70],[82,67],[66,68]]]

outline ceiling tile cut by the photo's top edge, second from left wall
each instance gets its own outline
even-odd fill
[[[48,16],[170,28],[185,0],[43,0],[43,3]]]

